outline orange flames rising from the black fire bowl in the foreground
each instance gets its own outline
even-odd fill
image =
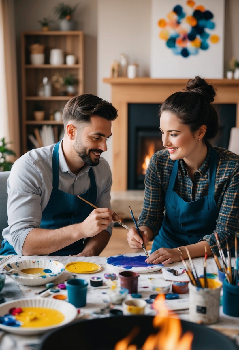
[[[158,294],[153,302],[157,315],[153,318],[153,327],[160,328],[157,334],[151,334],[146,339],[142,350],[191,350],[193,334],[187,331],[182,336],[181,321],[176,314],[170,314],[165,303],[165,295]],[[136,335],[135,328],[130,334],[115,345],[114,350],[137,350],[135,345],[129,345]]]

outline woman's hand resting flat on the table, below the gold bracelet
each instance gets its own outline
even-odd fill
[[[170,262],[181,261],[178,248],[159,248],[154,251],[148,259],[145,260],[148,264],[170,264]]]

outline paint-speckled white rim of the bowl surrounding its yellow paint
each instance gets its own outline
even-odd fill
[[[47,269],[52,272],[47,273],[45,276],[20,276],[17,272],[9,275],[14,281],[21,283],[25,286],[41,286],[45,285],[48,282],[54,281],[57,277],[59,277],[65,270],[65,266],[55,260],[20,260],[15,261],[10,264],[6,264],[3,267],[3,271],[9,271],[11,269],[15,269],[21,271],[25,268],[42,268]]]

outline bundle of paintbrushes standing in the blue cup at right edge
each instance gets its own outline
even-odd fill
[[[238,280],[239,280],[239,276],[238,276],[238,243],[237,243],[237,236],[235,236],[235,267],[234,269],[232,268],[232,262],[231,262],[231,251],[229,248],[228,243],[226,242],[226,250],[227,250],[227,260],[228,263],[226,262],[226,258],[225,255],[223,253],[223,250],[221,248],[219,239],[218,239],[218,234],[217,232],[215,232],[215,237],[216,237],[216,243],[217,243],[217,247],[219,250],[219,254],[221,257],[221,261],[223,263],[223,268],[221,267],[221,264],[218,260],[218,257],[216,254],[213,254],[214,260],[217,264],[217,267],[219,268],[220,271],[222,271],[222,269],[224,269],[225,271],[225,275],[226,275],[226,279],[227,282],[233,285],[237,285],[238,286]]]

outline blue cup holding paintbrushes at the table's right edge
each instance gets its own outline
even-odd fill
[[[228,316],[239,317],[239,287],[223,281],[223,312]]]

